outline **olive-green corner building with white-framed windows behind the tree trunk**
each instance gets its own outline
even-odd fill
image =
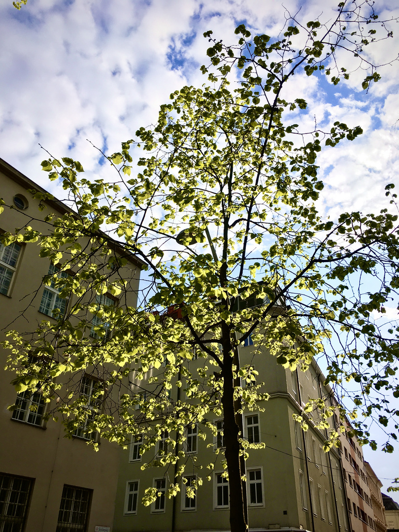
[[[251,450],[246,461],[250,530],[354,530],[348,519],[346,481],[338,450],[323,452],[325,434],[314,426],[316,412],[309,414],[306,433],[293,419],[293,414],[303,413],[309,398],[327,397],[331,401],[331,390],[321,384],[324,379],[319,368],[312,364],[307,372],[291,372],[276,364],[268,353],[254,354],[251,340],[246,344],[240,347],[241,363],[256,368],[270,393],[269,401],[260,404],[264,411],[244,414],[245,438],[265,445]],[[190,361],[190,368],[201,367],[204,361],[201,357]],[[142,387],[143,383],[138,393]],[[172,400],[189,400],[179,394],[184,394],[180,388],[172,389]],[[173,482],[173,471],[162,467],[141,470],[144,462],[165,450],[164,443],[157,445],[155,453],[141,455],[140,437],[131,441],[120,463],[113,532],[229,530],[228,481],[222,476],[222,454],[216,458],[214,454],[215,448],[223,446],[223,424],[218,418],[213,421],[217,436],[208,433],[206,440],[200,437],[206,432],[201,424],[187,427],[186,483],[181,482],[180,493],[172,499],[164,492]],[[209,472],[206,464],[212,462],[214,469]],[[199,477],[203,485],[190,498],[187,486]],[[151,486],[161,496],[146,507],[140,500],[144,489]]]

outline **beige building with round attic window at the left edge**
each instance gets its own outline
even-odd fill
[[[6,205],[0,215],[0,230],[14,231],[26,223],[35,228],[45,226],[44,217],[70,212],[57,200],[39,200],[29,193],[45,190],[0,160],[0,191]],[[121,250],[122,251],[122,250]],[[118,253],[118,250],[116,251]],[[136,304],[141,263],[130,257],[124,275],[130,279],[131,305]],[[57,299],[54,286],[44,286],[43,278],[54,273],[54,266],[38,255],[35,244],[0,245],[0,339],[4,328],[20,332],[34,330],[41,320],[52,321],[52,310],[71,301]],[[114,303],[116,303],[114,301]],[[64,306],[63,306],[64,305]],[[85,309],[82,308],[82,312]],[[98,321],[93,326],[98,325]],[[90,334],[95,335],[95,331]],[[0,351],[1,366],[6,353]],[[0,386],[0,530],[12,532],[94,531],[96,526],[109,530],[114,513],[114,495],[119,469],[119,447],[99,442],[98,452],[87,445],[93,436],[80,427],[72,439],[65,439],[60,422],[43,415],[48,408],[40,390],[24,392],[18,397],[10,385],[14,375],[2,371]],[[77,386],[87,396],[101,376],[82,371]],[[16,410],[8,407],[15,403]],[[107,528],[108,527],[108,528]]]

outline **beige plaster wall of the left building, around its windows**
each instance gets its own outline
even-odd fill
[[[44,192],[26,176],[0,160],[0,196],[6,204],[15,206],[14,209],[5,207],[0,215],[0,230],[14,231],[16,227],[26,223],[33,228],[43,229],[46,225],[40,220],[43,220],[49,212],[59,216],[68,210],[62,203],[53,201],[46,203],[44,211],[39,211],[38,201],[32,199],[28,192],[28,189],[32,188]],[[14,204],[16,195],[26,200],[28,204],[26,209],[19,209]],[[18,262],[13,269],[10,287],[6,294],[0,293],[0,340],[4,339],[5,328],[14,328],[20,332],[32,331],[41,320],[53,320],[52,317],[39,312],[44,290],[41,281],[48,273],[49,261],[40,259],[38,253],[39,248],[36,244],[22,245]],[[125,270],[132,287],[129,303],[135,305],[140,264],[132,259]],[[5,365],[5,358],[6,353],[0,348],[2,368]],[[23,419],[12,419],[12,413],[7,407],[16,400],[15,389],[10,385],[13,378],[14,375],[10,371],[1,372],[0,481],[1,496],[4,500],[0,505],[0,529],[3,530],[2,523],[9,523],[9,526],[10,523],[15,523],[13,531],[55,532],[65,485],[72,487],[68,495],[68,504],[74,505],[74,509],[78,508],[77,500],[80,496],[88,496],[87,527],[71,528],[71,530],[93,532],[95,526],[112,529],[119,448],[115,444],[100,441],[96,453],[87,445],[87,440],[84,438],[65,439],[60,422],[49,420],[43,423],[39,419],[38,424],[35,424]],[[29,419],[28,415],[26,418]],[[30,495],[27,500],[27,497],[21,493],[27,491],[29,482]],[[77,488],[88,491],[82,495]],[[19,494],[21,502],[19,508],[18,505],[13,505],[16,494]],[[25,511],[25,518],[21,519],[24,511],[22,503],[25,500],[28,502],[28,508]],[[16,523],[22,521],[18,528]],[[5,529],[9,530],[7,527]]]

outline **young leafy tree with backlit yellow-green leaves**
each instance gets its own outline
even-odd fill
[[[247,528],[243,459],[252,446],[243,439],[240,413],[267,399],[256,371],[239,367],[240,342],[252,335],[259,349],[292,370],[300,365],[306,371],[313,357],[325,356],[330,385],[345,380],[359,384],[354,406],[342,406],[342,415],[347,412],[355,420],[360,409],[367,421],[377,412],[386,426],[399,413],[375,397],[381,389],[399,396],[391,379],[397,370],[399,330],[379,330],[371,316],[384,312],[390,298],[397,297],[397,217],[388,210],[343,213],[336,221],[318,214],[323,188],[318,153],[345,138],[352,141],[362,131],[339,121],[329,131],[300,131],[290,123],[289,112],[305,110],[305,100],[283,98],[300,71],[325,73],[333,84],[347,79],[350,73],[338,64],[342,49],[357,65],[369,68],[364,90],[378,81],[375,66],[363,53],[378,37],[377,18],[368,1],[342,2],[336,19],[326,24],[303,26],[288,17],[279,40],[252,38],[241,25],[238,44],[226,46],[207,32],[213,66],[202,71],[211,86],[183,87],[171,94],[154,127],[140,128],[137,140],[122,143],[119,153],[107,157],[117,171],[114,182],[78,179],[82,165],[67,157],[43,161],[50,179],[62,179],[77,213],[58,219],[49,214],[53,230],[46,235],[22,227],[1,237],[5,244],[38,242],[41,256],[74,272],[73,277],[56,278],[62,293],[75,299],[55,325],[43,322],[33,338],[9,333],[6,347],[18,374],[17,389],[40,382],[50,400],[62,398],[51,403],[52,411],[64,416],[72,434],[87,418],[87,408],[76,395],[65,396],[63,386],[82,368],[103,367],[106,378],[96,398],[110,389],[118,393],[112,408],[93,415],[88,428],[121,445],[128,435],[144,434],[143,450],[166,440],[176,452],[161,454],[154,465],[178,465],[170,496],[184,476],[185,428],[203,422],[214,434],[207,414],[222,415],[234,531]],[[378,24],[386,29],[384,21]],[[230,88],[232,83],[236,88]],[[135,173],[131,163],[138,148],[145,153],[138,157]],[[396,198],[392,188],[386,187],[391,203]],[[90,251],[80,248],[81,237],[91,239]],[[111,293],[123,302],[128,289],[123,278],[110,281],[126,260],[111,252],[115,237],[127,253],[146,263],[149,285],[138,309],[115,307],[101,298],[90,306],[102,320],[93,343],[87,335],[93,323],[74,320],[74,313],[88,282],[99,296]],[[98,255],[108,262],[109,274],[96,271]],[[356,289],[368,277],[372,288]],[[359,279],[361,283],[353,282]],[[199,375],[186,365],[193,350],[206,360]],[[163,364],[159,375],[148,378],[150,368]],[[243,388],[241,378],[256,385]],[[154,385],[151,400],[144,402],[132,391],[133,379]],[[170,400],[168,390],[182,385],[192,402]],[[321,409],[321,424],[329,429],[328,451],[338,437],[328,423],[333,408],[323,398],[312,401],[309,408],[313,406]],[[355,420],[354,427],[356,436],[368,443],[363,421]],[[396,439],[396,433],[390,438]],[[385,450],[392,451],[389,439]],[[194,487],[200,483],[198,479]],[[157,489],[148,488],[145,504],[156,496]]]

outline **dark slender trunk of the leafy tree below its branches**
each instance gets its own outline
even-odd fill
[[[228,350],[225,353],[228,353]],[[223,356],[223,433],[226,445],[226,461],[229,473],[230,529],[231,532],[246,532],[242,472],[240,467],[239,427],[234,408],[234,381],[231,355]]]

